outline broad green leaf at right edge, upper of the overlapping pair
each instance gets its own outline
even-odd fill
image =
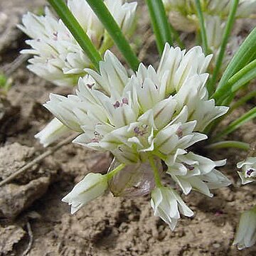
[[[226,68],[220,82],[218,84],[217,90],[213,94],[213,98],[217,103],[223,101],[223,95],[228,95],[231,88],[228,87],[228,80],[238,73],[242,68],[244,68],[248,63],[255,59],[255,48],[256,48],[256,28],[250,33],[249,36],[242,43],[238,51],[235,53],[234,57],[230,61],[228,67]]]

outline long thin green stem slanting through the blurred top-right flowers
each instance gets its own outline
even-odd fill
[[[216,63],[215,63],[215,68],[213,70],[213,77],[210,80],[209,84],[208,84],[208,91],[209,91],[209,95],[212,95],[212,93],[214,92],[215,89],[215,83],[217,82],[218,79],[218,73],[220,71],[222,62],[223,62],[223,58],[224,58],[224,54],[225,54],[225,48],[227,46],[228,43],[228,38],[230,36],[230,32],[233,28],[233,23],[235,21],[235,13],[238,9],[238,2],[239,0],[233,0],[232,6],[231,6],[231,10],[230,10],[230,14],[228,15],[228,21],[227,24],[225,26],[225,31],[223,34],[223,38],[220,44],[220,52],[218,54]]]

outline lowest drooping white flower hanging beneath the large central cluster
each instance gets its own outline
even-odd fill
[[[186,206],[178,193],[170,187],[154,188],[151,192],[151,207],[154,215],[164,220],[174,230],[180,213],[191,217],[193,211]]]

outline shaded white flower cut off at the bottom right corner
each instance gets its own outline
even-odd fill
[[[238,230],[235,234],[233,245],[238,245],[242,250],[251,247],[256,242],[256,208],[246,210],[240,216]]]

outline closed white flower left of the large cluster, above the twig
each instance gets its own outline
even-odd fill
[[[35,135],[35,138],[39,139],[39,142],[43,144],[43,146],[48,146],[70,132],[72,132],[72,130],[66,127],[57,118],[54,118],[41,130],[41,132],[38,132]]]

